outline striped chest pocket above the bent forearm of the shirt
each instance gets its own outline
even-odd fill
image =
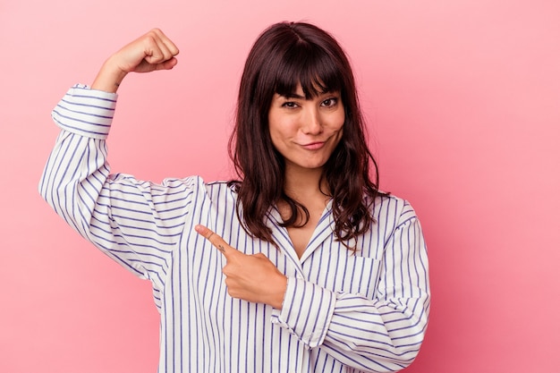
[[[323,286],[334,292],[361,294],[373,299],[379,282],[381,261],[366,257],[343,257],[322,272]]]

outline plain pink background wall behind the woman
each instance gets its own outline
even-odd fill
[[[124,82],[113,169],[224,179],[242,64],[283,20],[347,50],[381,186],[420,215],[433,301],[407,372],[560,371],[560,3],[36,0],[0,4],[1,372],[157,369],[148,282],[38,197],[65,90],[162,28],[180,62]]]

